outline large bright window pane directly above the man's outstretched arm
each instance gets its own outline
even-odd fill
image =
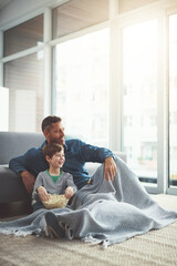
[[[108,29],[56,45],[55,114],[65,131],[108,145]]]

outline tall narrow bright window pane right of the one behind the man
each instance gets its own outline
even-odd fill
[[[157,182],[157,21],[124,29],[124,151],[142,181]]]

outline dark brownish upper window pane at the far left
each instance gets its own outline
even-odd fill
[[[43,14],[4,31],[3,55],[20,52],[43,42]]]

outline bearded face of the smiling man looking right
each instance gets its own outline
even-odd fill
[[[61,145],[65,143],[64,127],[61,122],[52,124],[50,131],[44,131],[44,136],[46,137],[48,143],[56,142]]]

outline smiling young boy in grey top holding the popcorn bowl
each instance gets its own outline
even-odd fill
[[[58,143],[49,143],[42,150],[43,156],[49,163],[49,170],[40,172],[37,176],[32,193],[33,212],[44,208],[42,202],[50,198],[50,194],[65,194],[71,198],[77,191],[71,174],[61,170],[65,162],[63,146]]]

